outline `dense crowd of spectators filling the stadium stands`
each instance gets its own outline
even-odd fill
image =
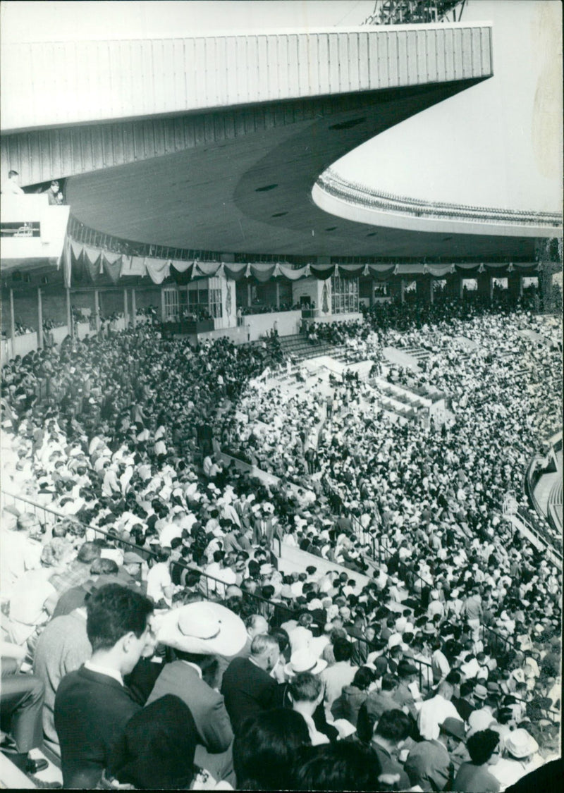
[[[558,421],[557,351],[520,333],[546,320],[379,308],[323,332],[427,347],[442,427],[360,409],[358,377],[267,389],[275,337],[144,325],[4,367],[2,486],[60,515],[2,515],[21,768],[44,740],[65,787],[497,791],[558,757],[562,576],[501,513]]]

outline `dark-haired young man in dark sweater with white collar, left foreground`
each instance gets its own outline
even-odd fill
[[[63,787],[96,787],[109,751],[140,706],[125,688],[150,644],[153,603],[119,584],[106,584],[86,603],[92,657],[61,680],[55,698]]]

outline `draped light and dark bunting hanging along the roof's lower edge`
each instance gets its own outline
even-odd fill
[[[242,278],[253,278],[259,283],[271,279],[298,281],[300,278],[313,276],[327,281],[332,276],[339,278],[372,278],[374,281],[386,281],[392,276],[413,277],[423,274],[431,278],[444,278],[450,274],[468,275],[489,273],[501,275],[514,271],[520,274],[538,272],[542,264],[539,262],[456,262],[435,263],[401,262],[378,264],[306,264],[294,267],[283,262],[257,262],[255,264],[236,262],[198,262],[180,259],[156,259],[152,256],[131,256],[102,251],[98,248],[76,242],[67,237],[63,252],[57,262],[57,269],[63,267],[65,286],[71,286],[71,277],[75,282],[97,282],[104,274],[116,284],[120,278],[148,278],[154,284],[162,284],[166,278],[180,285],[201,278],[213,278],[224,275],[232,281]]]

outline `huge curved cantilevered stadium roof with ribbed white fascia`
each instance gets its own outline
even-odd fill
[[[375,227],[312,199],[347,151],[491,76],[491,46],[472,24],[3,48],[2,171],[67,178],[78,220],[141,243],[531,260],[526,231]]]

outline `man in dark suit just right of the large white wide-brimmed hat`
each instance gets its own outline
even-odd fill
[[[275,707],[278,684],[270,672],[279,655],[278,640],[259,634],[251,642],[251,656],[233,658],[225,670],[221,693],[235,734],[247,717]]]

